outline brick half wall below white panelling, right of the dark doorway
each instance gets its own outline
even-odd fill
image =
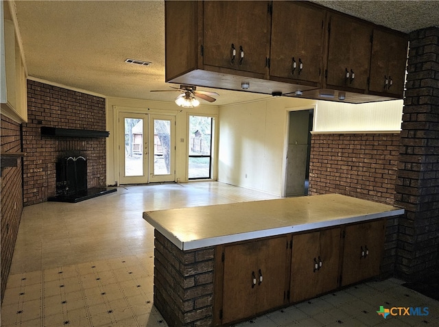
[[[309,194],[394,202],[399,134],[313,134]]]

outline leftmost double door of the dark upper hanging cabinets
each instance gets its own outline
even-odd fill
[[[205,65],[265,73],[270,47],[268,1],[204,1],[203,24]]]

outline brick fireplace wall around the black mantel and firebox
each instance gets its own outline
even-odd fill
[[[42,126],[106,130],[105,99],[27,81],[27,118],[23,123],[24,204],[56,195],[56,161],[64,155],[87,158],[87,186],[106,186],[105,138],[41,136]]]

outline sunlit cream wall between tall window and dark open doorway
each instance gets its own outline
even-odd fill
[[[282,195],[287,114],[316,101],[271,98],[219,108],[218,180]]]

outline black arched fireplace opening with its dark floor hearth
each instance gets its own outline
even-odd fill
[[[56,162],[56,196],[47,201],[76,203],[115,191],[106,187],[87,188],[85,156],[62,156]]]

